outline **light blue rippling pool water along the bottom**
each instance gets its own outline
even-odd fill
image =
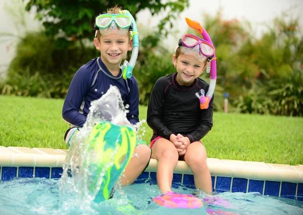
[[[151,180],[123,188],[118,185],[114,198],[100,204],[87,204],[77,199],[73,192],[62,194],[59,187],[60,180],[55,179],[0,181],[0,214],[303,214],[301,201],[260,193],[218,193],[217,197],[229,201],[229,208],[212,204],[196,209],[167,208],[153,202],[160,192]],[[175,184],[174,187],[173,191],[178,193],[195,192],[182,185]],[[206,196],[200,193],[198,197],[204,199]]]

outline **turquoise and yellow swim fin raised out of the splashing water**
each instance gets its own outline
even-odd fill
[[[118,126],[104,121],[94,125],[89,135],[89,148],[96,152],[96,162],[91,164],[93,172],[90,190],[96,189],[100,177],[103,181],[95,196],[95,202],[110,198],[112,189],[122,175],[135,149],[136,134],[128,126]]]

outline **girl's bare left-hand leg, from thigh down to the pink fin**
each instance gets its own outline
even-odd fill
[[[171,141],[159,138],[153,145],[151,156],[158,160],[157,183],[165,194],[171,191],[174,168],[178,164],[178,151]]]

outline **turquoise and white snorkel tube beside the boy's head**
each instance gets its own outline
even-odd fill
[[[139,37],[138,37],[137,25],[133,16],[127,10],[122,11],[122,13],[130,16],[132,23],[132,32],[130,38],[133,39],[133,47],[131,52],[131,58],[129,60],[129,63],[128,61],[124,61],[123,65],[120,66],[122,70],[123,78],[127,79],[127,78],[131,78],[132,71],[137,61],[138,52],[139,52]]]

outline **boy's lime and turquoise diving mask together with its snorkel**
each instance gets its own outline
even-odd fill
[[[131,78],[139,52],[139,37],[133,16],[127,10],[120,11],[120,14],[99,15],[95,20],[95,29],[96,31],[99,30],[103,35],[106,35],[112,29],[117,29],[118,34],[122,35],[131,31],[130,38],[133,39],[131,58],[129,62],[124,61],[123,65],[120,66],[123,78]]]

